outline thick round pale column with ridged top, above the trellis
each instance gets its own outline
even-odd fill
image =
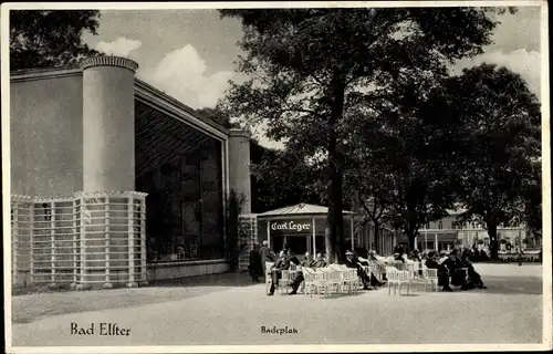
[[[83,190],[135,189],[135,71],[125,58],[92,56],[83,71]]]

